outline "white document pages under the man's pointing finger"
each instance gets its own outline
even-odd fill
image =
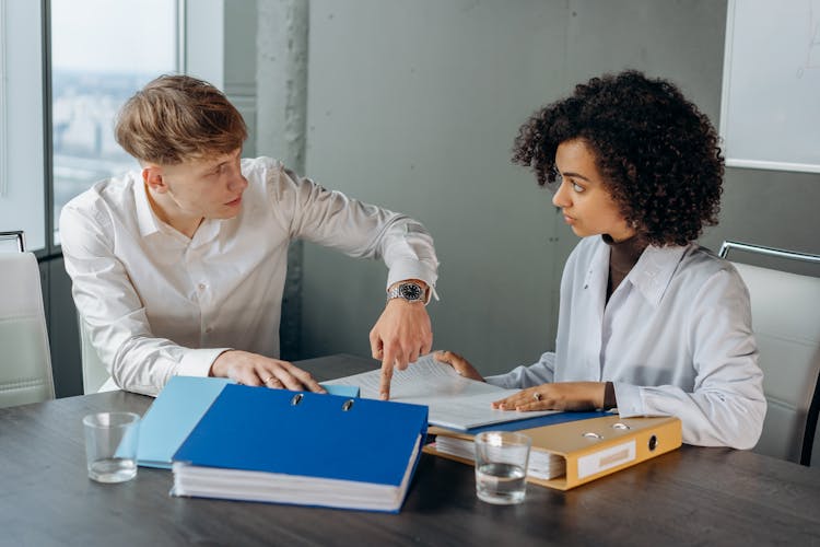
[[[358,385],[362,397],[377,399],[379,381],[380,370],[376,369],[324,383]],[[424,405],[430,408],[430,423],[459,431],[555,412],[517,412],[490,406],[517,392],[462,377],[432,354],[420,358],[403,371],[394,369],[390,382],[390,400]]]

